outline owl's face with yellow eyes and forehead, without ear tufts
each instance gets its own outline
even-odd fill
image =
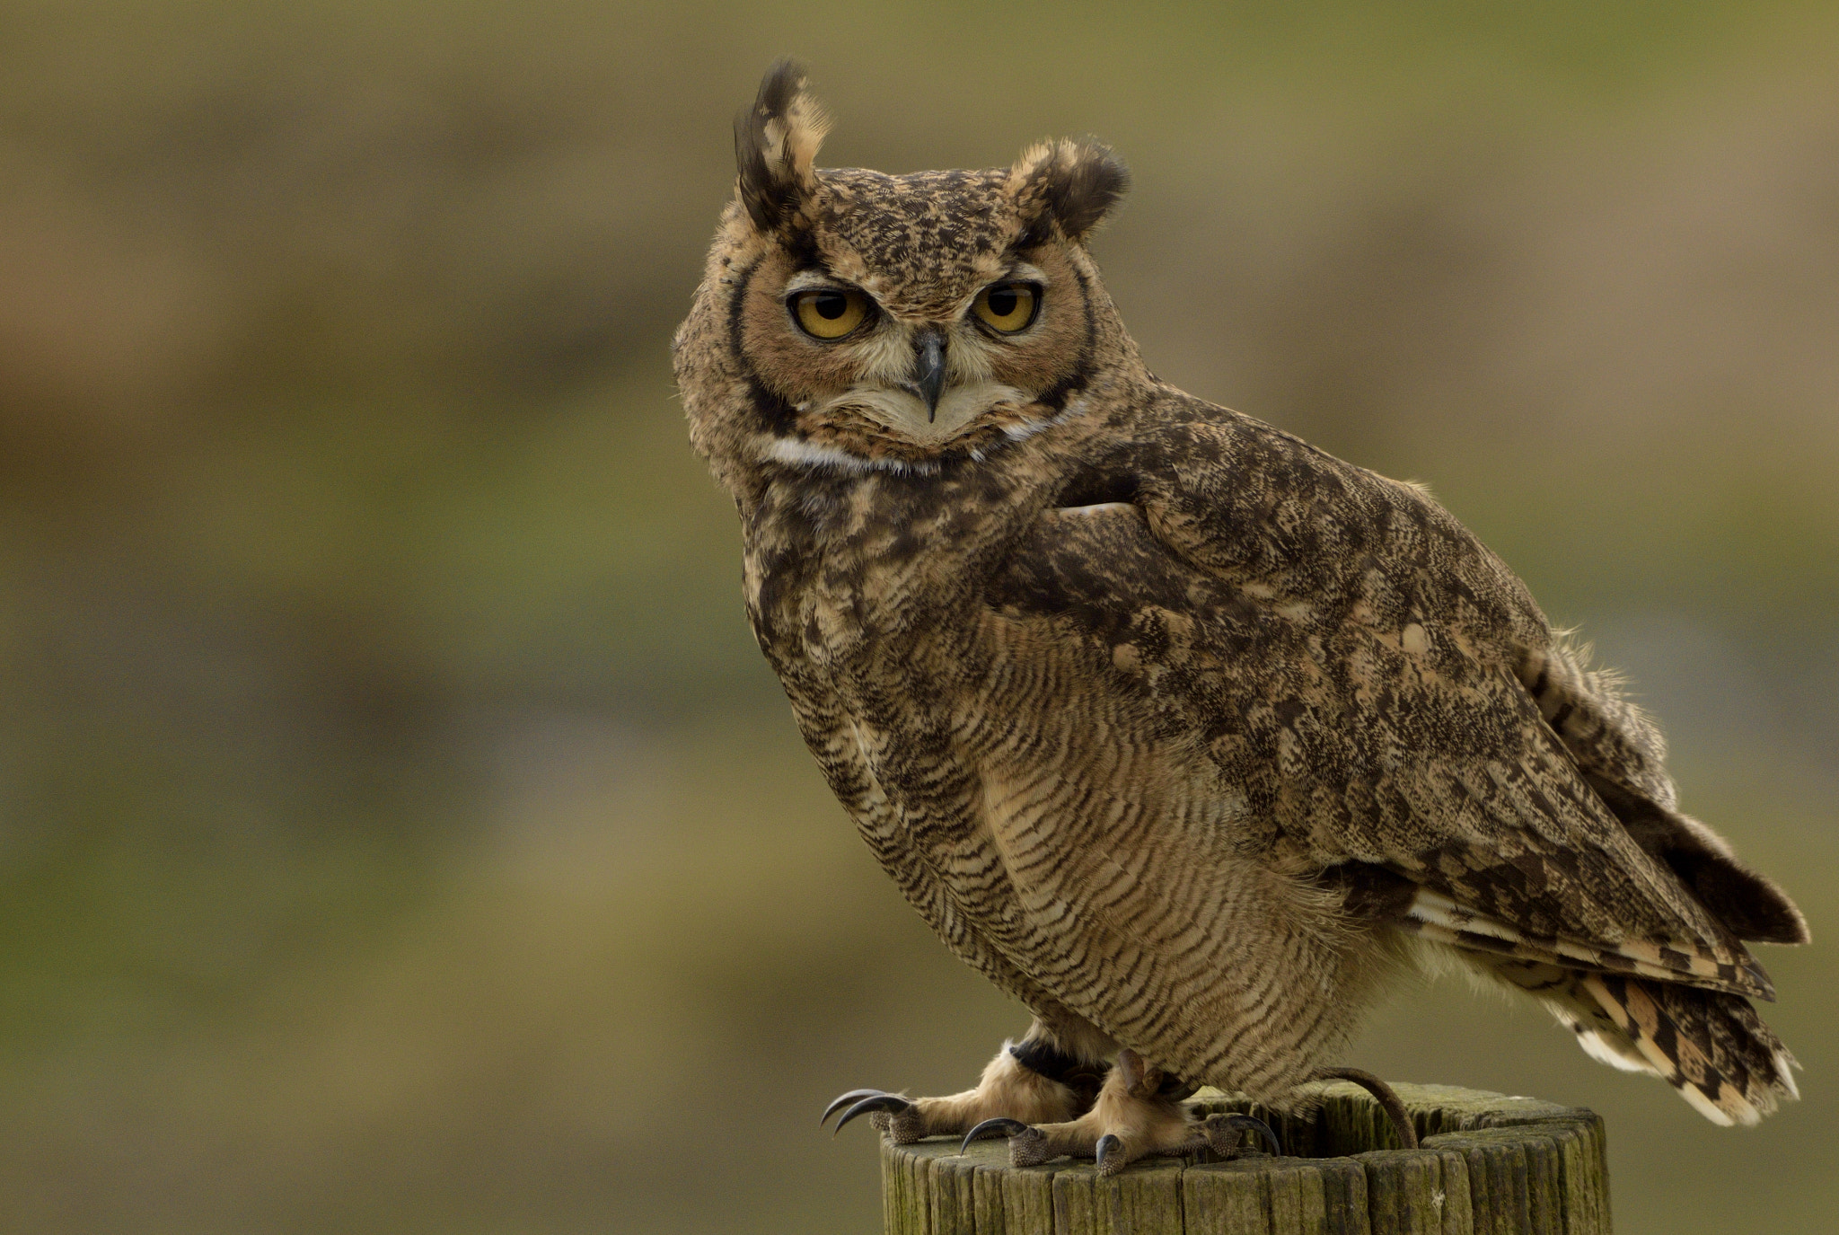
[[[741,304],[741,352],[800,420],[936,447],[1072,377],[1089,287],[1024,234],[1008,173],[817,184],[811,245],[769,247]]]

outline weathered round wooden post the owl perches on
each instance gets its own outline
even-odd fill
[[[1604,1121],[1440,1084],[1398,1084],[1422,1145],[1398,1148],[1348,1082],[1280,1115],[1203,1090],[1195,1114],[1269,1123],[1285,1158],[1149,1158],[1105,1180],[1091,1161],[1010,1167],[1006,1141],[881,1145],[886,1235],[1607,1235]],[[1210,1095],[1212,1097],[1206,1097]]]

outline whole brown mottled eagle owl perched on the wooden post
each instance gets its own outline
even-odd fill
[[[820,171],[826,127],[789,63],[737,120],[690,438],[831,790],[1034,1012],[975,1088],[848,1115],[1114,1171],[1197,1084],[1282,1102],[1425,959],[1716,1123],[1795,1097],[1745,941],[1800,913],[1422,488],[1144,366],[1087,252],[1116,156]]]

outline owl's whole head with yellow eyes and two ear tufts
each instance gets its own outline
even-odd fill
[[[818,169],[828,120],[774,64],[736,118],[739,177],[677,377],[691,440],[737,469],[936,469],[1065,416],[1135,348],[1085,250],[1127,173],[1091,142],[1010,167]]]

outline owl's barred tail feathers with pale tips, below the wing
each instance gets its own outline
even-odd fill
[[[1795,1056],[1743,996],[1523,961],[1488,970],[1537,996],[1587,1055],[1661,1077],[1716,1125],[1754,1125],[1800,1097]]]

